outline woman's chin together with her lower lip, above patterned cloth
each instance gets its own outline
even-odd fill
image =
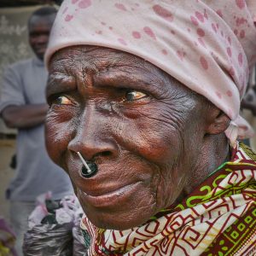
[[[90,222],[111,230],[127,230],[147,222],[160,210],[154,194],[151,187],[142,182],[99,195],[92,194],[86,187],[77,188],[79,202]]]

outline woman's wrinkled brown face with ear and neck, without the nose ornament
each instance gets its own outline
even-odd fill
[[[229,157],[218,108],[154,65],[115,49],[76,46],[51,59],[49,155],[98,227],[125,230],[188,195]],[[80,175],[77,152],[98,166]]]

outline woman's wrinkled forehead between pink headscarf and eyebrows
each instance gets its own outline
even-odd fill
[[[127,85],[139,83],[145,85],[145,89],[146,85],[153,84],[153,90],[165,93],[167,85],[173,83],[148,61],[115,49],[73,46],[60,50],[55,61],[58,62],[58,70],[72,73],[78,79],[78,84],[104,85],[108,80],[112,85],[115,81],[121,85],[126,80]],[[119,84],[116,86],[119,87]]]

